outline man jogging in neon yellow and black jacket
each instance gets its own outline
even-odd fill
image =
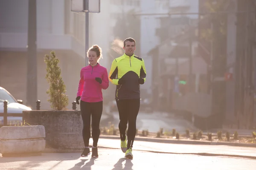
[[[125,54],[113,60],[109,73],[116,85],[116,105],[119,112],[121,149],[125,158],[133,159],[132,145],[136,135],[136,119],[140,110],[140,84],[144,84],[146,69],[144,60],[134,55],[136,42],[133,38],[124,41]],[[125,131],[128,123],[128,143]]]

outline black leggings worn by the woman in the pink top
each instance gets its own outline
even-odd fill
[[[99,123],[102,116],[103,102],[84,102],[81,101],[80,104],[81,116],[83,119],[83,139],[84,146],[89,146],[90,140],[90,118],[92,116],[92,137],[93,137],[93,146],[97,147],[99,140]]]

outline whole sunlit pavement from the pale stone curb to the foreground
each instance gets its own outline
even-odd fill
[[[0,170],[255,170],[256,167],[256,148],[251,147],[135,141],[134,159],[130,160],[124,158],[119,144],[118,139],[99,139],[97,159],[81,158],[80,153],[3,157]]]

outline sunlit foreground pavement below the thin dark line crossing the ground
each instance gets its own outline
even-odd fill
[[[42,156],[0,158],[0,170],[255,170],[256,161],[220,156],[133,151],[123,158],[120,149],[99,148],[99,158],[80,153],[43,153]]]

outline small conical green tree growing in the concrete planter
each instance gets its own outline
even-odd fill
[[[61,111],[65,110],[68,105],[68,97],[65,95],[66,86],[61,77],[61,68],[58,66],[60,60],[56,57],[55,51],[51,51],[50,56],[45,55],[44,62],[46,63],[46,79],[50,87],[47,90],[49,94],[52,109]]]

